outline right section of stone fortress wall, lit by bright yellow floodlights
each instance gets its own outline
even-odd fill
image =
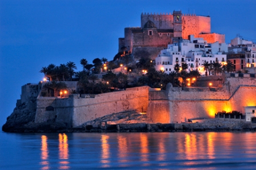
[[[256,106],[255,78],[226,78],[222,88],[167,87],[149,92],[148,116],[159,123],[181,123],[192,118],[214,118],[219,111],[239,111]],[[158,110],[158,108],[161,108]]]

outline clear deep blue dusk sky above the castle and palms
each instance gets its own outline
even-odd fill
[[[256,42],[256,1],[0,0],[0,125],[20,99],[21,86],[43,79],[42,67],[105,57],[112,60],[125,27],[141,13],[210,15],[211,31],[226,43],[240,34]]]

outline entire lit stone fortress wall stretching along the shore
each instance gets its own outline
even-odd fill
[[[244,107],[256,106],[255,76],[243,76],[211,76],[212,79],[209,76],[202,78],[201,82],[198,80],[198,84],[211,81],[215,87],[185,87],[181,90],[181,87],[172,87],[169,84],[167,90],[162,91],[152,91],[143,86],[81,97],[38,96],[36,104],[30,105],[31,109],[36,109],[35,123],[54,120],[66,123],[69,127],[77,127],[102,116],[131,110],[147,112],[153,122],[181,123],[193,118],[214,118],[214,114],[219,111],[235,110],[244,113]],[[22,87],[22,98],[26,96],[29,99],[39,94],[34,90],[38,88],[38,84],[25,86]]]

